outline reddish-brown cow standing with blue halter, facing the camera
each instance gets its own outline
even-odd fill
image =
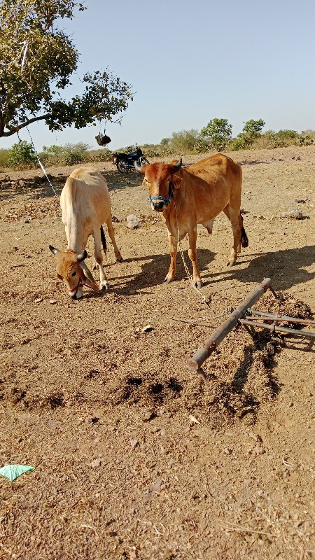
[[[162,212],[169,235],[171,264],[165,282],[174,280],[176,274],[177,242],[188,233],[188,255],[193,263],[193,281],[201,288],[202,280],[197,267],[197,224],[212,233],[214,218],[221,211],[228,216],[233,230],[233,247],[228,265],[237,260],[240,245],[248,246],[248,239],[241,217],[241,167],[233,160],[218,153],[200,162],[181,168],[179,162],[153,163],[134,167],[144,175],[143,185],[148,188],[151,207]]]

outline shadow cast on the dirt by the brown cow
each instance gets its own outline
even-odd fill
[[[270,251],[260,255],[245,255],[248,266],[238,269],[237,265],[230,269],[203,274],[209,278],[210,283],[222,281],[222,274],[229,280],[238,280],[244,283],[259,283],[264,278],[271,278],[274,289],[287,290],[299,283],[308,282],[315,278],[314,272],[308,272],[304,267],[311,266],[315,261],[315,246],[304,246],[283,251]],[[243,258],[244,258],[243,257]],[[253,258],[251,258],[253,257]],[[220,275],[220,279],[216,276]]]

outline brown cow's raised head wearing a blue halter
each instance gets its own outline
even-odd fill
[[[181,169],[181,159],[172,163],[151,163],[139,165],[134,163],[137,172],[144,175],[143,185],[148,189],[151,208],[157,212],[167,209],[173,198],[173,189],[179,188],[182,179],[176,176]]]

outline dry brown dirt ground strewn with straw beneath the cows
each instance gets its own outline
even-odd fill
[[[109,183],[124,262],[109,243],[111,289],[86,288],[79,302],[48,251],[66,246],[48,183],[37,171],[0,175],[0,465],[35,467],[15,482],[0,477],[1,559],[314,557],[309,339],[253,339],[239,327],[204,363],[206,381],[187,367],[265,276],[283,302],[268,293],[256,307],[306,316],[302,300],[315,311],[315,147],[232,158],[243,165],[249,246],[226,269],[225,216],[212,237],[198,227],[209,307],[181,255],[177,280],[162,283],[165,225],[137,175],[95,165]],[[57,193],[72,169],[47,170]],[[281,218],[292,208],[304,218]],[[141,217],[139,229],[127,229],[128,214]],[[183,250],[188,262],[187,240]]]

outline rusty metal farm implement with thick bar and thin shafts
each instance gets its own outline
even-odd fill
[[[283,332],[283,334],[290,334],[299,337],[309,337],[315,338],[315,332],[309,332],[307,330],[297,330],[294,328],[284,327],[279,325],[279,323],[297,323],[302,325],[315,325],[315,321],[310,319],[300,319],[295,317],[289,317],[287,315],[279,315],[274,313],[268,313],[267,311],[257,311],[252,309],[252,305],[257,302],[260,297],[267,291],[271,290],[275,297],[276,293],[272,289],[272,280],[270,278],[265,278],[256,288],[251,292],[244,302],[242,302],[228,318],[221,323],[221,325],[215,330],[213,335],[209,337],[202,346],[194,353],[192,358],[188,360],[188,367],[190,370],[198,371],[201,373],[200,367],[204,363],[211,353],[218,348],[218,345],[223,341],[223,339],[228,335],[228,333],[237,324],[244,325],[244,327],[253,334],[255,328],[265,328],[267,330],[272,330],[273,332]]]

